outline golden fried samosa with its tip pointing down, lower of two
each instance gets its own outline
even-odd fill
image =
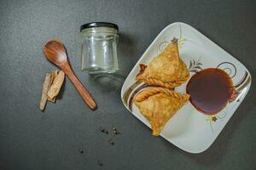
[[[148,88],[137,94],[135,104],[148,119],[154,136],[159,136],[166,122],[189,100],[169,88]]]

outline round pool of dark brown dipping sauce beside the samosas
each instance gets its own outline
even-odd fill
[[[225,71],[218,68],[197,72],[187,85],[191,104],[207,115],[221,111],[231,99],[233,92],[232,79]]]

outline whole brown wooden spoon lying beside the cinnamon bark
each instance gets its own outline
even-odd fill
[[[59,66],[62,71],[67,74],[67,77],[73,82],[73,85],[79,91],[79,94],[84,99],[84,102],[90,107],[90,109],[96,108],[94,99],[90,96],[89,92],[83,87],[79,79],[74,75],[68,61],[66,50],[61,42],[49,41],[44,46],[44,55],[49,61]]]

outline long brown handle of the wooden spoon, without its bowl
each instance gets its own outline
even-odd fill
[[[61,65],[62,71],[64,71],[67,74],[67,77],[73,82],[73,85],[77,90],[79,91],[79,94],[82,96],[84,99],[84,102],[90,107],[90,109],[95,109],[96,108],[96,103],[94,99],[92,99],[91,95],[89,92],[84,88],[81,82],[79,82],[79,79],[74,75],[72,69],[68,65],[68,63],[65,63]]]

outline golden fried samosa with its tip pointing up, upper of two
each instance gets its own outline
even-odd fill
[[[148,66],[140,65],[140,67],[141,71],[137,75],[137,80],[149,85],[174,88],[189,78],[189,71],[183,60],[179,58],[175,38]]]

